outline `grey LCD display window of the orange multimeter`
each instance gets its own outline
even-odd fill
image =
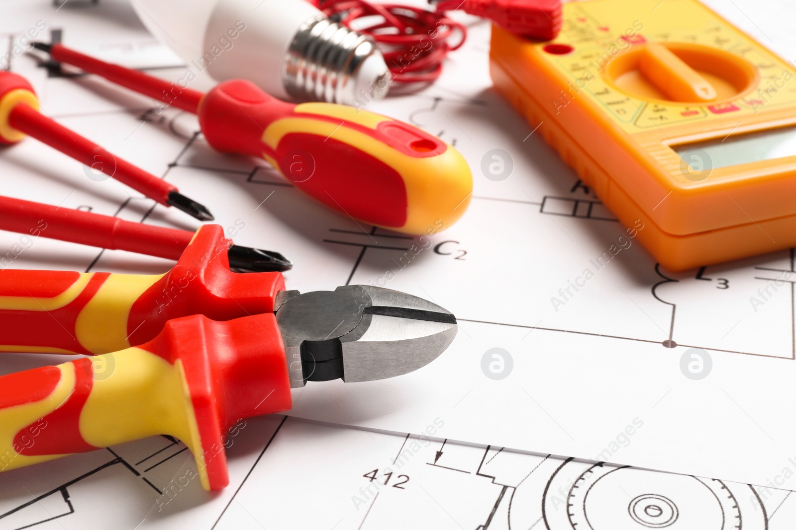
[[[693,144],[673,145],[687,164],[727,168],[796,155],[796,127],[737,134]]]

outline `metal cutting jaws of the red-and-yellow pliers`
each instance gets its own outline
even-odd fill
[[[439,305],[373,285],[282,291],[275,313],[291,388],[412,372],[439,357],[458,329],[456,317]]]

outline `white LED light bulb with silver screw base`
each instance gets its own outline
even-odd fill
[[[249,79],[279,99],[363,106],[388,91],[372,38],[305,0],[131,0],[146,28],[189,68]]]

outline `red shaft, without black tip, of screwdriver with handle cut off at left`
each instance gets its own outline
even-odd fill
[[[119,180],[122,184],[126,184],[164,206],[169,205],[170,192],[178,191],[173,184],[108,153],[100,145],[80,136],[73,130],[68,130],[24,103],[14,106],[9,114],[8,123],[14,129],[74,158],[92,168],[93,171],[105,173],[107,176]]]

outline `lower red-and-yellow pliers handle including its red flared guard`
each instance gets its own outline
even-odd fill
[[[275,315],[188,316],[139,347],[0,377],[0,470],[172,435],[193,452],[202,486],[221,489],[229,427],[289,408]]]

